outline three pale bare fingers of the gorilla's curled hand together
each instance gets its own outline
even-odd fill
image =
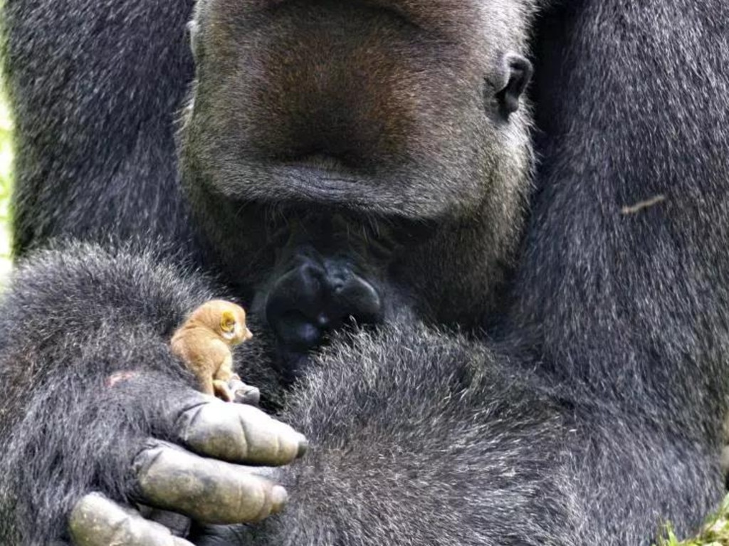
[[[200,523],[253,522],[284,507],[284,488],[238,465],[288,464],[305,452],[303,435],[249,405],[197,391],[171,398],[160,407],[163,420],[172,424],[170,439],[179,445],[155,438],[144,442],[133,457],[131,497]],[[98,493],[77,502],[69,527],[78,546],[190,545]]]

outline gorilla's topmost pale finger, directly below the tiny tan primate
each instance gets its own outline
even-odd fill
[[[257,407],[209,398],[180,414],[176,434],[200,455],[269,467],[289,464],[308,448],[303,434]]]

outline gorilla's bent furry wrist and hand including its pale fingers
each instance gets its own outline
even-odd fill
[[[172,330],[210,296],[151,252],[76,245],[19,268],[0,326],[0,542],[50,544],[74,505],[79,545],[172,544],[121,507],[136,502],[208,523],[281,509],[283,488],[230,463],[286,464],[303,437],[194,391],[171,355]]]

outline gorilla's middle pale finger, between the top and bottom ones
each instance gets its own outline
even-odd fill
[[[136,456],[133,468],[141,502],[198,523],[260,521],[280,512],[288,499],[283,487],[250,469],[155,440]]]

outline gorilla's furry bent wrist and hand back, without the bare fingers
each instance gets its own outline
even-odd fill
[[[1,422],[1,492],[4,510],[15,509],[2,518],[0,542],[48,543],[92,484],[118,496],[128,478],[122,461],[133,455],[124,448],[165,424],[106,381],[117,371],[160,372],[139,384],[141,399],[184,387],[167,332],[209,293],[151,253],[90,245],[44,251],[18,268],[0,315],[1,381],[12,395]],[[16,526],[22,541],[12,538]]]

